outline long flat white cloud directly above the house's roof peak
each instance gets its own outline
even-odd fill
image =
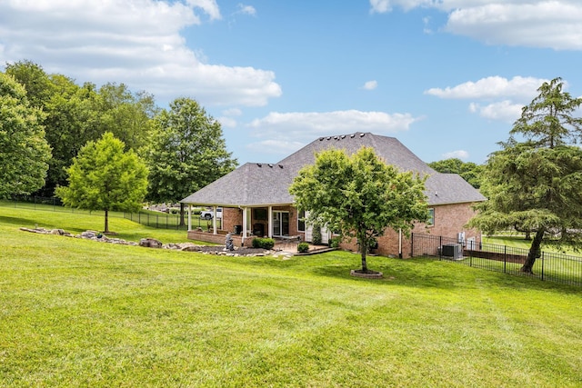
[[[314,136],[351,134],[356,131],[394,134],[406,131],[421,117],[411,114],[386,114],[356,110],[336,112],[272,112],[253,120],[249,126],[255,136],[286,142],[311,141]]]

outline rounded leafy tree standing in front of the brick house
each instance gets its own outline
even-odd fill
[[[356,237],[361,272],[369,273],[368,248],[386,228],[408,236],[415,222],[428,219],[424,182],[385,164],[372,148],[362,147],[351,156],[330,149],[316,154],[316,163],[299,171],[289,192],[299,210],[309,211],[308,222]]]

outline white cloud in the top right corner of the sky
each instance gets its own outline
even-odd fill
[[[370,0],[383,14],[431,7],[447,13],[444,30],[488,45],[582,50],[582,2],[578,0]]]

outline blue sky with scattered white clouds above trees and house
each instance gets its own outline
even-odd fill
[[[356,132],[482,164],[542,83],[582,96],[582,1],[0,0],[0,71],[23,60],[193,98],[239,164]]]

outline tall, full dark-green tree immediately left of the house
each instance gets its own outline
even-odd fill
[[[231,172],[236,159],[226,151],[222,128],[195,100],[178,98],[156,116],[145,148],[147,199],[176,203]],[[184,204],[180,206],[184,224]]]

